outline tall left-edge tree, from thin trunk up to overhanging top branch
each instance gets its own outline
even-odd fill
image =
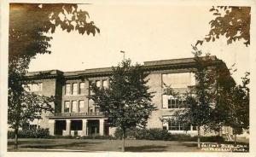
[[[34,111],[51,110],[49,97],[27,93],[22,87],[26,84],[26,72],[35,55],[51,53],[49,41],[52,37],[46,33],[54,33],[58,26],[66,32],[86,32],[88,35],[100,32],[93,21],[87,21],[88,18],[88,13],[78,9],[77,4],[10,3],[8,122],[16,133],[22,121],[35,118]]]

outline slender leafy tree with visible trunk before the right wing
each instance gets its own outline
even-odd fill
[[[186,94],[187,108],[175,113],[177,121],[183,125],[193,125],[198,131],[198,148],[201,148],[201,128],[209,130],[214,108],[213,93],[215,73],[209,54],[201,57],[201,50],[193,47],[195,55],[195,86]]]

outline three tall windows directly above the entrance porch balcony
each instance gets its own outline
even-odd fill
[[[83,108],[84,101],[71,101],[71,104],[69,101],[64,102],[64,113],[82,113]]]

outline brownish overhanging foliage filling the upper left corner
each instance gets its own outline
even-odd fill
[[[89,14],[75,3],[11,3],[9,13],[9,57],[50,53],[45,33],[54,33],[60,26],[62,31],[77,31],[88,35],[100,32]]]

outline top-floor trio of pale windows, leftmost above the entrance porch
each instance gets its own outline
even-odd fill
[[[65,95],[79,95],[84,94],[84,82],[73,83],[73,84],[66,84],[65,85]]]

